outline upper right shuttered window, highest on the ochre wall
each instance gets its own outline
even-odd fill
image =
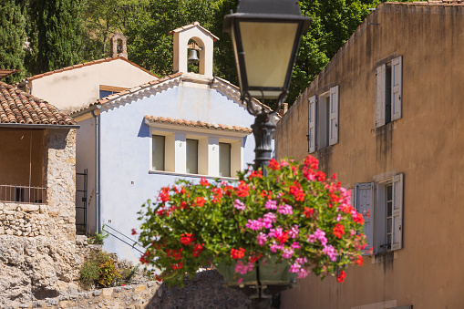
[[[376,67],[376,128],[401,118],[402,57]]]

